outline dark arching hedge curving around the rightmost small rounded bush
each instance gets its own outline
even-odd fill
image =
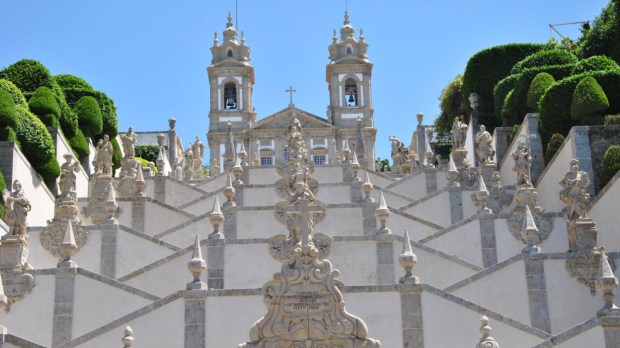
[[[576,122],[570,117],[573,93],[579,81],[592,76],[609,100],[607,113],[620,113],[620,70],[589,71],[567,77],[551,86],[540,99],[540,122],[543,144],[551,134],[560,133],[566,136]]]

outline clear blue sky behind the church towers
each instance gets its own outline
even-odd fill
[[[390,135],[409,142],[416,126],[439,114],[441,89],[477,51],[511,42],[546,42],[548,24],[592,20],[608,0],[349,0],[364,29],[372,76],[376,153]],[[86,79],[114,99],[121,132],[164,130],[176,117],[187,145],[208,130],[209,48],[234,0],[6,1],[0,13],[0,67],[36,59],[52,74]],[[288,105],[325,117],[327,47],[342,25],[345,1],[238,0],[255,67],[258,118]],[[576,39],[578,26],[559,27]]]

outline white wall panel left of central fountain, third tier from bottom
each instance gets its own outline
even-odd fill
[[[321,224],[315,225],[315,232]],[[276,234],[288,235],[288,230],[275,219],[273,210],[237,211],[237,238],[271,238]]]

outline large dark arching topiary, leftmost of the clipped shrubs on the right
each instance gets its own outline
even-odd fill
[[[494,112],[495,85],[510,74],[510,70],[517,62],[545,47],[542,44],[508,44],[490,47],[474,54],[467,62],[463,74],[464,100],[476,92],[480,96],[480,112]]]

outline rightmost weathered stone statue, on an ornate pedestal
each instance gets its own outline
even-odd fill
[[[560,186],[560,200],[566,204],[568,220],[587,219],[590,194],[586,190],[590,186],[590,176],[579,170],[579,160],[570,161],[570,171],[560,180]]]

